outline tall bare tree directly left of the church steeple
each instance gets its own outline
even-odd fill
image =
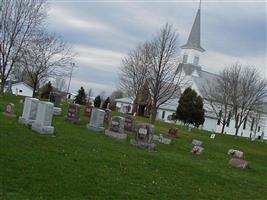
[[[152,98],[151,123],[155,122],[158,108],[177,98],[181,87],[186,85],[178,68],[177,38],[173,27],[165,24],[149,44],[147,81]]]

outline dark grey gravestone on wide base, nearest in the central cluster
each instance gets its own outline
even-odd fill
[[[135,130],[135,138],[130,140],[134,146],[138,146],[148,151],[155,151],[156,144],[153,143],[155,127],[151,124],[138,124]]]

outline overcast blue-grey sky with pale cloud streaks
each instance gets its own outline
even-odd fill
[[[108,95],[118,86],[121,58],[151,39],[166,23],[186,43],[198,0],[49,1],[48,27],[73,45],[77,54],[71,92],[83,86]],[[254,65],[267,78],[266,2],[202,1],[200,58],[203,70],[218,73],[236,61]]]

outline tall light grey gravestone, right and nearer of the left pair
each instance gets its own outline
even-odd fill
[[[40,134],[53,134],[54,127],[51,126],[53,119],[54,104],[51,102],[40,101],[37,109],[35,122],[32,124],[32,130]]]

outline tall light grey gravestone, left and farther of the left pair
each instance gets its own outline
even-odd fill
[[[39,99],[26,97],[24,100],[22,116],[19,117],[19,123],[33,124],[36,119],[38,104]]]

